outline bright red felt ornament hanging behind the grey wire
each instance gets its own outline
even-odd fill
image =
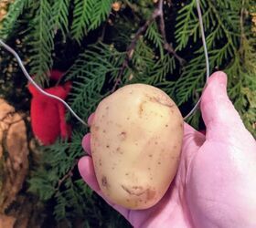
[[[58,70],[49,72],[49,77],[59,80],[64,73]],[[32,130],[38,140],[43,145],[54,143],[60,136],[62,139],[70,137],[71,128],[65,119],[65,106],[57,99],[49,98],[40,93],[32,84],[28,84],[28,89],[32,94],[31,100],[31,124]],[[52,88],[45,88],[44,91],[59,98],[67,98],[71,89],[71,82]]]

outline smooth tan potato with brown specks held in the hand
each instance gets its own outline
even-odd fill
[[[101,192],[128,209],[146,209],[176,175],[183,118],[162,90],[133,84],[104,98],[91,125],[91,156]]]

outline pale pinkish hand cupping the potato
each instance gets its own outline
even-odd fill
[[[176,178],[154,207],[133,211],[101,194],[91,156],[80,159],[84,181],[134,227],[256,227],[256,142],[226,91],[227,76],[214,73],[200,104],[206,135],[184,126]],[[93,115],[89,124],[93,121]],[[90,134],[82,141],[90,154]]]

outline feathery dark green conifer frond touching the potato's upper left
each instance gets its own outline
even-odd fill
[[[70,68],[67,79],[75,80],[69,100],[83,119],[87,119],[101,98],[106,95],[102,87],[106,80],[117,77],[124,53],[101,43],[89,47]]]

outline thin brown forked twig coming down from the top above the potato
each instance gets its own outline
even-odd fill
[[[126,57],[123,60],[123,65],[120,68],[118,77],[115,80],[115,83],[113,85],[112,88],[112,92],[115,91],[115,89],[118,87],[118,85],[120,84],[120,82],[122,81],[122,76],[123,76],[123,72],[124,69],[126,67],[128,67],[128,63],[129,61],[132,59],[133,57],[133,53],[134,53],[134,49],[136,47],[136,44],[140,38],[140,36],[144,33],[144,31],[147,29],[148,26],[151,25],[151,23],[157,18],[160,17],[160,31],[161,31],[161,35],[164,38],[164,48],[166,51],[168,51],[170,54],[172,54],[174,57],[176,57],[176,59],[178,60],[179,64],[181,66],[184,66],[185,64],[185,59],[183,59],[182,57],[179,57],[176,54],[176,51],[174,50],[174,48],[167,42],[166,40],[166,36],[165,36],[165,20],[164,20],[164,12],[163,12],[163,5],[164,5],[164,0],[160,0],[158,3],[157,8],[155,8],[155,10],[153,11],[152,16],[150,16],[150,18],[148,18],[146,20],[146,22],[144,23],[143,26],[141,26],[138,31],[136,32],[135,36],[133,37],[133,40],[131,42],[131,44],[126,48]]]

